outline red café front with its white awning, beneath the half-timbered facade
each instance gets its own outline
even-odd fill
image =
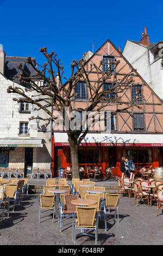
[[[52,143],[53,172],[57,176],[58,168],[71,166],[70,147],[67,134],[55,132]],[[79,147],[79,166],[84,169],[101,166],[114,168],[114,173],[121,176],[122,156],[133,156],[136,169],[152,164],[153,168],[162,166],[163,136],[161,134],[129,133],[87,133]]]

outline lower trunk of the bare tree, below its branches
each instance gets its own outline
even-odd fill
[[[78,143],[77,141],[68,136],[70,143],[71,161],[72,161],[72,178],[79,179],[79,162],[78,162]]]

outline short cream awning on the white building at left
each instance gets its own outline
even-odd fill
[[[0,147],[43,147],[42,138],[0,138]]]

